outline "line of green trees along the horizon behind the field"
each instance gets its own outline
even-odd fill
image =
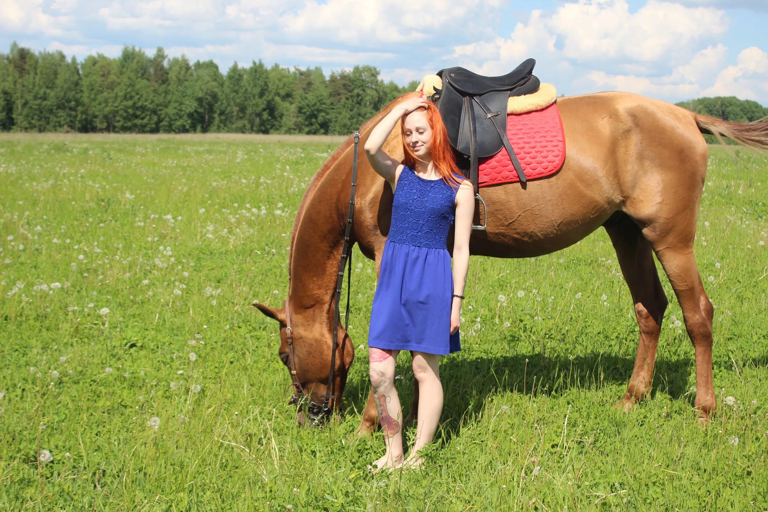
[[[222,74],[214,61],[149,56],[125,46],[118,58],[82,62],[61,51],[32,51],[16,43],[0,52],[0,130],[109,133],[349,134],[418,82],[399,87],[373,66],[248,68]],[[678,103],[700,114],[756,121],[768,108],[737,97]],[[707,136],[711,137],[711,136]]]

